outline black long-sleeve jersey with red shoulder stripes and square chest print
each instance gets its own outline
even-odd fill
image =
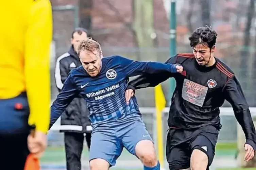
[[[169,127],[196,130],[203,126],[221,129],[220,109],[225,100],[231,103],[235,117],[241,125],[246,142],[256,150],[256,134],[249,106],[242,88],[222,61],[210,67],[200,66],[193,53],[182,53],[166,63],[178,63],[184,67],[182,74],[162,72],[142,75],[130,82],[135,89],[154,87],[170,77],[175,78],[176,88],[169,111]]]

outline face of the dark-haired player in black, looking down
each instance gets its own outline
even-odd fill
[[[214,51],[215,46],[211,49],[204,44],[198,44],[197,46],[193,47],[193,54],[195,56],[195,59],[197,60],[197,63],[203,66],[208,66],[209,64],[211,64],[210,60],[214,59]]]

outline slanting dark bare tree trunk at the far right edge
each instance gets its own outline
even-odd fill
[[[244,38],[243,38],[243,47],[241,50],[241,62],[240,62],[240,78],[246,78],[248,76],[248,69],[247,69],[247,65],[248,65],[248,59],[249,59],[249,45],[250,45],[250,29],[251,29],[251,25],[252,25],[252,19],[254,16],[254,10],[255,10],[255,0],[250,0],[250,3],[248,4],[248,12],[247,12],[247,19],[246,19],[246,25],[244,28]],[[246,88],[247,87],[247,83],[244,80],[243,81],[243,87]]]

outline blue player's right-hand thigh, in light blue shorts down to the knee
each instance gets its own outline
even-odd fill
[[[145,154],[155,154],[153,140],[140,119],[123,128],[121,136],[124,147],[139,158]]]

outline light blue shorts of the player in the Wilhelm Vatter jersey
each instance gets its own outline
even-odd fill
[[[141,140],[153,142],[139,115],[93,126],[89,159],[102,158],[114,166],[123,147],[135,155],[135,146]]]

